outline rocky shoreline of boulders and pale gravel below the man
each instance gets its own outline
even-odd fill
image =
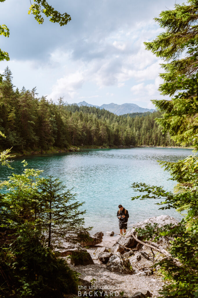
[[[164,255],[154,251],[153,260],[151,249],[132,237],[135,228],[144,228],[148,223],[156,223],[161,227],[166,224],[177,225],[178,221],[168,215],[161,215],[135,224],[125,237],[114,235],[103,241],[103,233],[98,232],[92,236],[93,243],[68,243],[60,254],[70,268],[80,274],[81,279],[78,294],[71,297],[97,297],[99,291],[101,293],[98,296],[102,297],[159,297],[159,291],[167,283],[157,265]],[[157,243],[168,249],[169,240],[166,238],[161,237]]]

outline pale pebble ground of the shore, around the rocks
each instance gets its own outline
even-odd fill
[[[130,297],[135,292],[138,292],[140,289],[145,288],[153,295],[152,297],[159,297],[159,291],[161,290],[164,281],[162,280],[162,276],[158,271],[155,271],[154,274],[150,276],[137,276],[136,274],[121,274],[118,272],[108,271],[104,264],[102,264],[97,256],[94,254],[98,247],[111,247],[113,246],[119,238],[118,235],[114,237],[104,237],[104,241],[102,243],[89,247],[87,251],[91,254],[92,259],[94,260],[93,265],[87,266],[73,266],[69,263],[69,266],[72,270],[80,273],[80,278],[83,280],[94,281],[94,286],[103,287],[105,291],[105,287],[107,292],[115,291],[124,292],[124,296]],[[149,252],[149,251],[148,251]],[[142,258],[140,262],[138,262],[138,266],[144,265],[152,265],[152,258],[150,260],[146,260]]]

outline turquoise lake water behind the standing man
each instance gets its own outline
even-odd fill
[[[74,187],[72,193],[77,193],[76,199],[85,201],[86,226],[94,226],[91,234],[119,232],[116,217],[119,204],[129,211],[128,229],[138,221],[161,214],[181,218],[173,209],[158,210],[160,206],[154,199],[131,201],[133,195],[138,195],[131,184],[145,182],[172,190],[175,182],[167,180],[170,175],[157,160],[175,162],[191,154],[189,149],[127,148],[22,156],[14,159],[14,170],[0,167],[0,180],[6,180],[12,172],[22,173],[21,161],[26,159],[28,167],[44,170],[42,176],[53,175],[64,181],[68,189]]]

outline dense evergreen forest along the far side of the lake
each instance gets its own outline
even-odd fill
[[[37,98],[36,88],[21,91],[12,84],[7,67],[0,86],[1,149],[48,150],[51,147],[154,145],[173,146],[169,133],[162,135],[154,119],[160,112],[117,116],[96,107],[55,104]]]

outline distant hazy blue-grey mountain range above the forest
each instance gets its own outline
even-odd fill
[[[144,112],[153,112],[154,109],[146,109],[146,108],[140,108],[138,105],[134,103],[123,103],[122,105],[117,105],[116,103],[109,103],[108,105],[103,104],[100,107],[98,105],[91,105],[90,103],[86,103],[85,101],[81,101],[80,103],[77,103],[77,105],[87,105],[88,107],[96,107],[100,109],[105,109],[107,111],[110,111],[116,115],[123,115],[128,113],[144,113]]]

